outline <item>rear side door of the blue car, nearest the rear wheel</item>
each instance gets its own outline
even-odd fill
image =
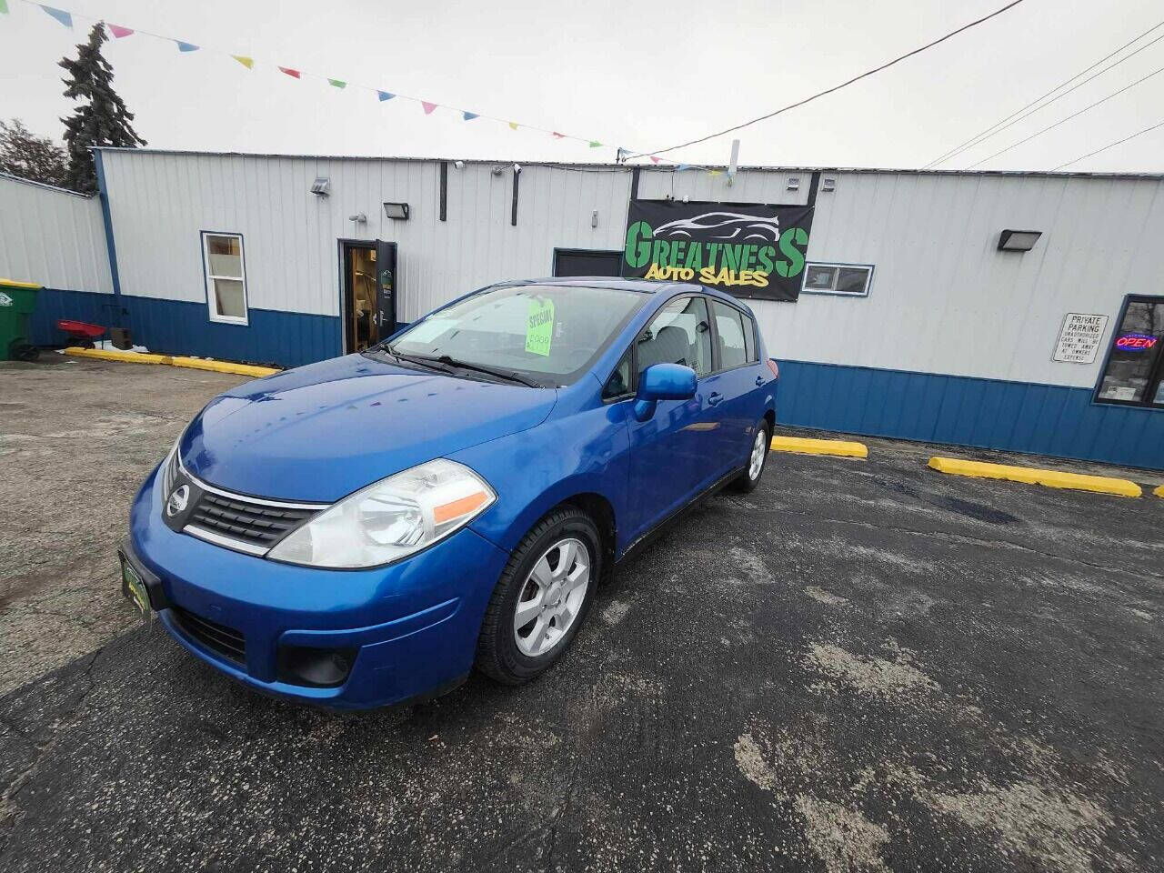
[[[764,413],[759,399],[767,374],[759,362],[755,322],[743,310],[711,298],[715,324],[716,372],[711,385],[718,397],[719,475],[740,467],[752,446],[755,424]]]

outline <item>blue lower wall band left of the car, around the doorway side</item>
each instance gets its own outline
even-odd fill
[[[121,296],[134,342],[151,352],[219,357],[225,361],[298,367],[340,354],[340,319],[294,312],[256,310],[249,325],[210,320],[204,303]],[[33,341],[59,346],[66,340],[57,319],[72,318],[98,325],[113,324],[114,297],[85,291],[44,289],[33,314]]]

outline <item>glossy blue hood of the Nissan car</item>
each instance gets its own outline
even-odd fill
[[[182,462],[230,491],[332,502],[539,425],[556,396],[348,355],[219,395],[186,428]]]

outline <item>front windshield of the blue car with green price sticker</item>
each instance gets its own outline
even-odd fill
[[[613,288],[509,285],[467,297],[397,336],[393,355],[569,384],[630,320],[645,294]]]

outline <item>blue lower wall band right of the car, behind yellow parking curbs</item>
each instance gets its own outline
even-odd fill
[[[1164,410],[1092,403],[1090,388],[779,364],[783,425],[1164,469]]]

